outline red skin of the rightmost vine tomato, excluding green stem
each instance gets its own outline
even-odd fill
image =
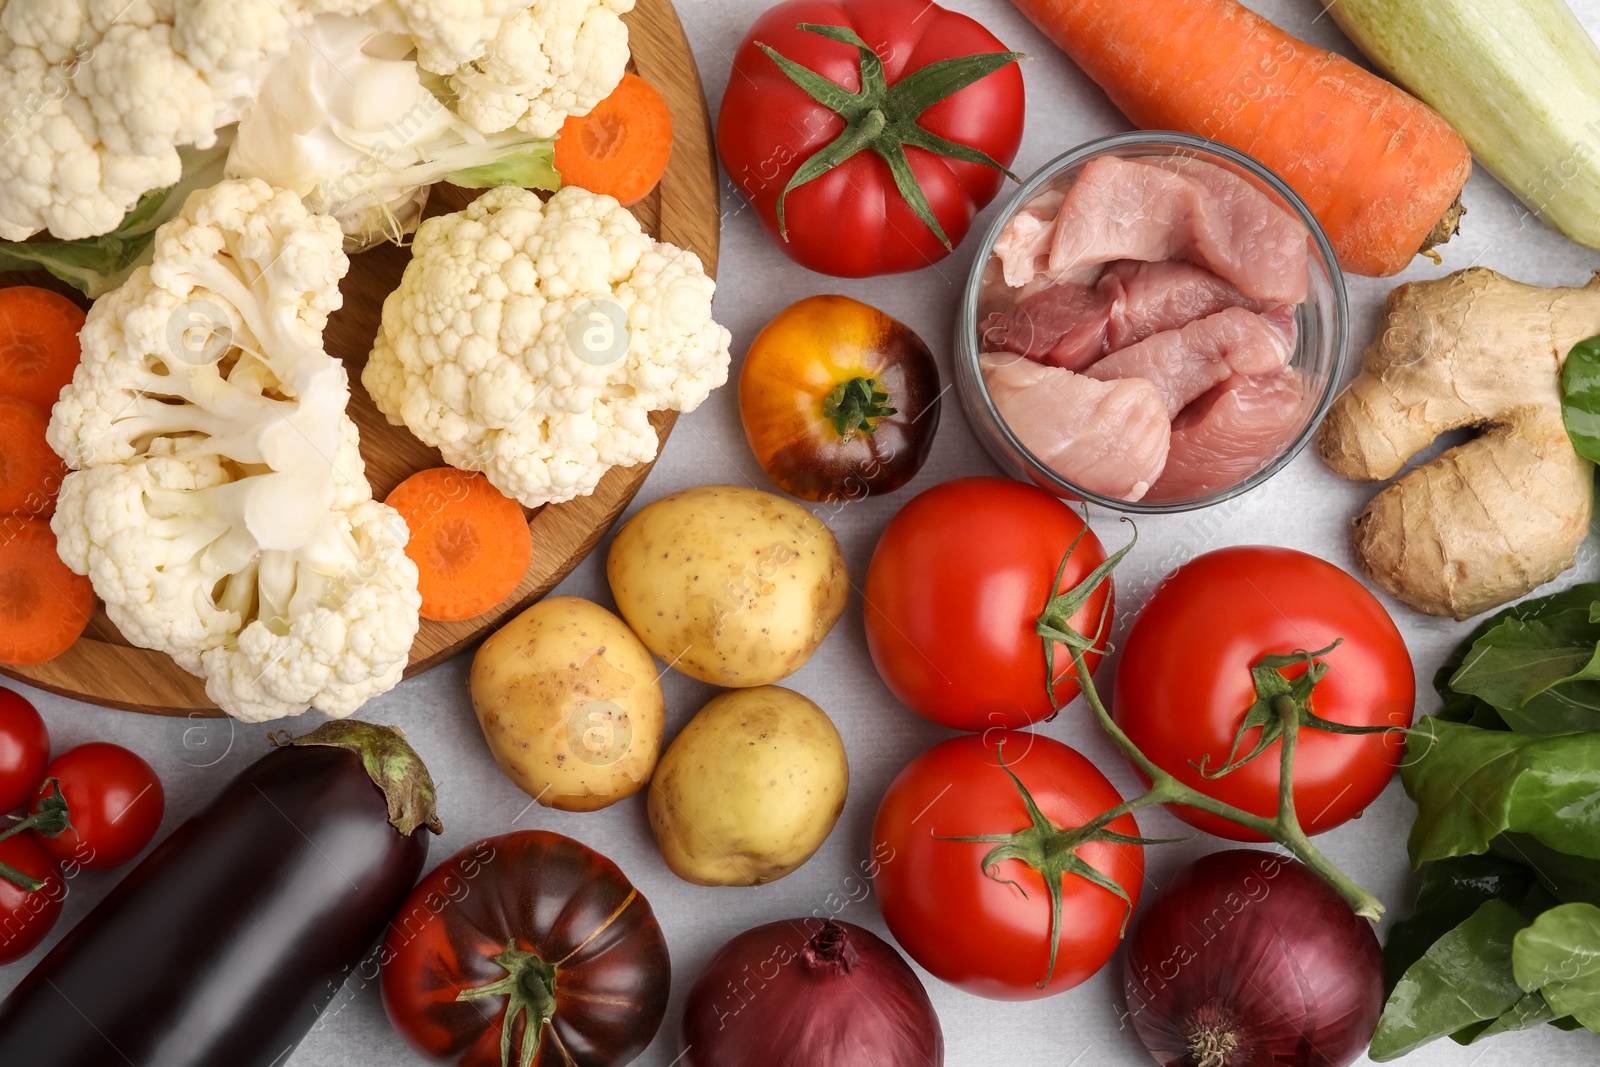
[[[1274,742],[1214,779],[1256,697],[1250,669],[1262,657],[1317,651],[1334,640],[1328,673],[1310,697],[1320,718],[1352,726],[1410,726],[1416,675],[1400,630],[1378,598],[1331,563],[1293,549],[1235,547],[1184,563],[1139,613],[1117,665],[1112,715],[1152,763],[1235,808],[1272,817],[1278,808]],[[1286,669],[1298,677],[1304,669]],[[1254,745],[1251,729],[1240,755]],[[1333,734],[1301,726],[1294,811],[1307,833],[1354,819],[1398,766],[1400,734]],[[1235,841],[1266,838],[1192,808],[1173,813]]]

